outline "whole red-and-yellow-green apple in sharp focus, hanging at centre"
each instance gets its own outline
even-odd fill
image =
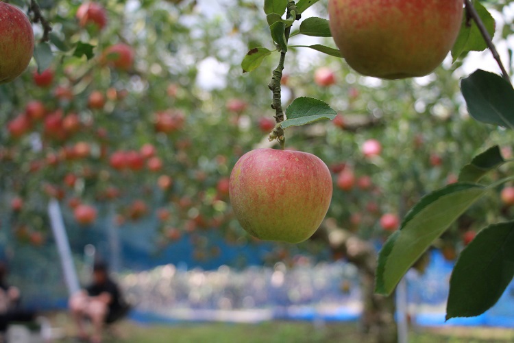
[[[313,235],[332,198],[332,177],[317,156],[256,149],[237,161],[230,202],[241,226],[259,239],[299,243]]]

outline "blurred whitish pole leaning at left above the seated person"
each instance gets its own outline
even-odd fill
[[[66,235],[61,209],[57,200],[50,200],[48,204],[48,214],[50,216],[53,237],[56,239],[59,257],[61,259],[64,280],[66,281],[66,286],[68,287],[68,292],[71,296],[80,289],[79,279],[77,277],[75,265],[73,265],[73,257],[71,256],[68,236]]]

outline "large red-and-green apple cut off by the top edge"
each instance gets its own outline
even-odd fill
[[[330,31],[350,67],[411,78],[443,62],[461,28],[462,0],[329,0]]]

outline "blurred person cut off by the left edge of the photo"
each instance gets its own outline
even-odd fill
[[[10,322],[32,322],[34,311],[23,310],[20,307],[21,293],[17,287],[7,283],[8,266],[0,261],[0,334],[4,335]]]

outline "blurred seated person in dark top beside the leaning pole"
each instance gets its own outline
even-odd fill
[[[69,309],[77,325],[79,340],[99,343],[103,325],[121,318],[128,307],[118,285],[110,279],[106,263],[96,262],[93,265],[93,282],[71,296]],[[87,320],[93,327],[91,336],[84,327]]]

